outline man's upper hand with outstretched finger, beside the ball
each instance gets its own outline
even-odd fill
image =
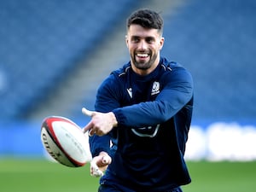
[[[90,116],[90,122],[84,126],[84,132],[89,131],[89,136],[96,134],[97,136],[103,136],[108,134],[114,126],[118,125],[113,112],[100,113],[95,111],[89,111],[86,108],[82,108],[82,112]]]

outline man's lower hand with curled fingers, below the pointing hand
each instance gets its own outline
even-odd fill
[[[106,152],[101,152],[90,161],[90,176],[102,177],[112,159]]]

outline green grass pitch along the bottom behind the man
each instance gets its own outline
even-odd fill
[[[256,162],[188,162],[192,183],[183,192],[255,192]],[[47,160],[0,159],[4,192],[95,192],[89,165],[69,168]]]

